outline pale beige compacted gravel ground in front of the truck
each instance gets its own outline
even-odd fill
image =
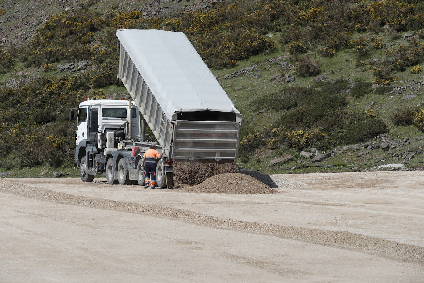
[[[0,282],[423,282],[423,177],[271,175],[267,195],[0,179]]]

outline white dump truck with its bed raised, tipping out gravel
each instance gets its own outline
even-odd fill
[[[241,114],[187,36],[161,30],[117,30],[116,35],[118,78],[129,100],[79,105],[75,163],[82,181],[106,171],[109,184],[143,185],[141,161],[150,146],[146,126],[158,150],[165,150],[156,166],[159,187],[172,185],[179,161],[234,164]]]

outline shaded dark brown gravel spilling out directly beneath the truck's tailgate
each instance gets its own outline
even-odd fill
[[[234,173],[234,160],[174,160],[174,186],[195,186],[211,176],[225,173]]]

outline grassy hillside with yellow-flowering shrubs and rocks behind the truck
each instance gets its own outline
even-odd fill
[[[122,28],[188,36],[243,115],[240,167],[337,170],[309,167],[311,158],[300,155],[335,150],[333,158],[315,165],[343,163],[357,170],[370,161],[393,162],[423,146],[419,138],[394,142],[421,137],[424,130],[421,1],[125,5],[85,1],[58,14],[47,7],[43,13],[51,15],[38,23],[30,41],[16,39],[1,48],[1,168],[73,165],[69,110],[84,96],[126,96],[116,80],[115,31]],[[0,7],[1,28],[10,38],[14,21],[22,22],[11,16],[12,9]],[[368,148],[385,140],[388,152]],[[365,149],[370,152],[358,157]],[[270,165],[285,155],[292,159]],[[420,155],[413,161],[419,160]]]

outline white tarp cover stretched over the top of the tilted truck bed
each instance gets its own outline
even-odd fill
[[[186,111],[240,115],[184,33],[117,30],[116,35],[169,120]]]

